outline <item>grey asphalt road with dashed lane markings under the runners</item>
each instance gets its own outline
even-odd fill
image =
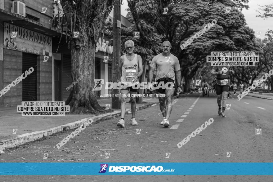
[[[199,99],[198,99],[199,98]],[[196,101],[196,104],[193,104]],[[215,93],[210,97],[189,94],[173,105],[170,127],[160,125],[159,105],[137,111],[138,126],[125,117],[125,128],[117,127],[120,118],[90,125],[78,136],[57,149],[56,144],[72,131],[47,140],[24,145],[0,154],[0,162],[272,162],[273,101],[233,96],[226,118],[218,116]],[[192,108],[192,109],[190,109]],[[182,116],[184,115],[184,116]],[[182,117],[183,118],[182,118]],[[191,138],[180,149],[178,142],[209,118],[213,123]],[[183,121],[182,121],[183,119]],[[178,121],[177,121],[178,120]],[[175,128],[174,125],[177,127]],[[262,135],[255,135],[255,128]],[[141,133],[136,135],[137,129]],[[107,149],[107,150],[105,150]],[[231,152],[230,157],[227,152]],[[48,153],[43,159],[43,153]],[[110,157],[105,159],[105,153]],[[165,158],[165,153],[171,153]],[[1,176],[0,181],[273,181],[272,176],[223,175],[136,175],[136,176]]]

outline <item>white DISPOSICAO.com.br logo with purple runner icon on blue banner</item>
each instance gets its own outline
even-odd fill
[[[108,164],[100,164],[99,173],[108,172],[174,172],[175,169],[163,169],[163,166],[108,166]]]

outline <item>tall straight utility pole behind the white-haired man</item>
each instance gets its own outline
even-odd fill
[[[120,28],[118,27],[118,20],[120,21],[120,0],[115,0],[114,3],[114,17],[113,17],[113,74],[112,80],[120,82],[119,58],[120,58]],[[120,89],[113,89],[112,96],[119,94]],[[112,97],[112,109],[120,109],[120,98]]]

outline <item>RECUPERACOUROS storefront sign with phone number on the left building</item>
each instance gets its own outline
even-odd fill
[[[43,55],[44,49],[45,55],[52,56],[51,37],[6,22],[4,26],[4,49],[38,55]],[[17,32],[16,38],[11,38],[12,32]]]

